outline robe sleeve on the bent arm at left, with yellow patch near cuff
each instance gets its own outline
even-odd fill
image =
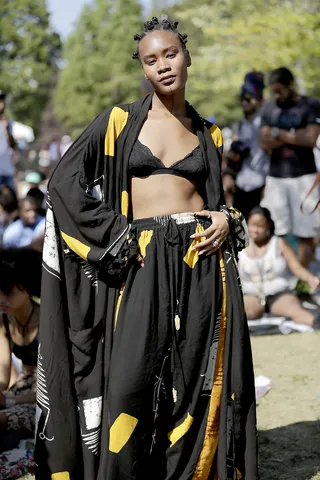
[[[67,150],[49,182],[48,193],[67,246],[99,268],[107,253],[116,254],[129,226],[105,201],[105,138],[110,111],[100,114]],[[114,178],[114,182],[116,179]],[[109,182],[110,183],[110,182]]]

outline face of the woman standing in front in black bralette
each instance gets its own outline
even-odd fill
[[[139,58],[156,92],[172,95],[185,87],[187,54],[174,33],[162,30],[148,33],[140,41]]]

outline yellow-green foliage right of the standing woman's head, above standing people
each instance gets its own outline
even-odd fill
[[[285,65],[300,91],[320,96],[319,2],[185,0],[169,13],[190,35],[188,98],[220,125],[241,115],[238,94],[250,70],[268,75]]]

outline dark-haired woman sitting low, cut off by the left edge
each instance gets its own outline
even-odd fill
[[[32,437],[35,425],[41,255],[31,249],[0,251],[0,429]],[[12,354],[22,362],[17,376]],[[6,434],[4,434],[6,432]]]

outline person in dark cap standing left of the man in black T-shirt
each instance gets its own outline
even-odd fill
[[[265,88],[261,72],[249,72],[240,91],[243,118],[237,124],[235,139],[227,154],[228,165],[224,172],[226,194],[233,193],[233,205],[245,217],[259,205],[270,159],[259,145],[261,125],[260,109]]]

